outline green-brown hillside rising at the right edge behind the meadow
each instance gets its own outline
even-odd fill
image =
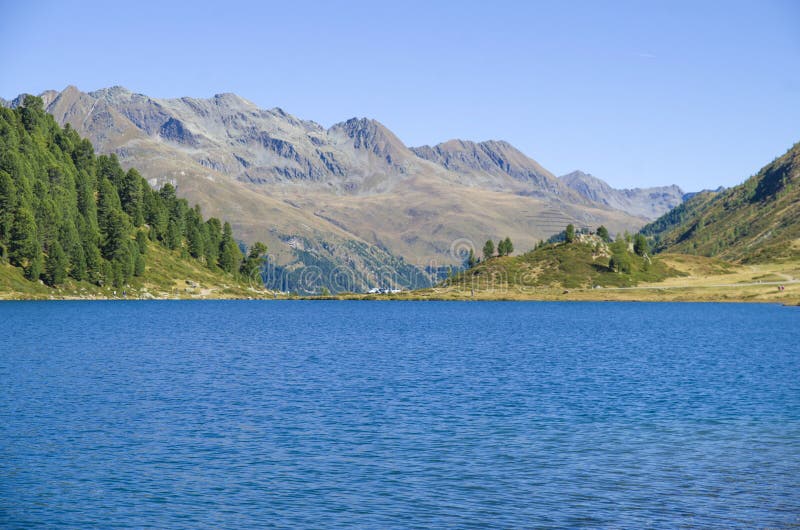
[[[642,233],[658,251],[741,262],[800,257],[800,143],[743,184],[695,196]]]

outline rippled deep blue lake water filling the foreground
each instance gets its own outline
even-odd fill
[[[800,308],[0,303],[0,527],[800,525]]]

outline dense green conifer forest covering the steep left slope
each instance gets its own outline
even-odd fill
[[[0,258],[48,285],[121,287],[144,274],[150,242],[247,276],[266,252],[257,243],[245,258],[229,223],[204,220],[170,184],[153,190],[115,155],[96,156],[40,98],[0,108]]]

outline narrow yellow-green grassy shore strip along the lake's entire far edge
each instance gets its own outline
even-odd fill
[[[756,302],[800,305],[800,263],[731,265],[709,268],[688,256],[661,258],[681,275],[630,287],[562,288],[508,282],[458,283],[386,294],[338,293],[327,296],[270,291],[241,282],[220,282],[201,268],[179,269],[176,279],[161,279],[127,289],[85,282],[49,288],[28,282],[8,265],[0,266],[0,300],[408,300],[408,301],[613,301]],[[169,263],[170,266],[173,263]]]

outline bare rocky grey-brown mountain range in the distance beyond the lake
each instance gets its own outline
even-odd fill
[[[172,183],[244,242],[266,241],[275,288],[425,286],[486,239],[526,249],[568,223],[635,231],[683,195],[614,190],[580,172],[557,178],[503,141],[409,148],[375,120],[325,128],[234,94],[70,86],[40,97],[100,153],[154,187]]]

